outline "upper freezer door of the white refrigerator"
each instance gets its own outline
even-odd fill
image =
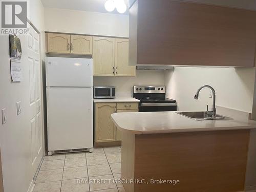
[[[46,86],[92,87],[92,59],[46,57]]]

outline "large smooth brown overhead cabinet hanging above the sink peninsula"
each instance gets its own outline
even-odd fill
[[[254,66],[255,11],[137,0],[129,20],[129,65]]]

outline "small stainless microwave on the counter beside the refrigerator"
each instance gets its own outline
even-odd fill
[[[94,87],[93,95],[95,99],[114,99],[116,96],[116,87],[114,86]]]

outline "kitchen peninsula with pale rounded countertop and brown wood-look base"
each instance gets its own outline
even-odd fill
[[[176,112],[116,113],[111,118],[122,132],[121,179],[145,181],[123,184],[126,192],[244,190],[256,121],[196,121]]]

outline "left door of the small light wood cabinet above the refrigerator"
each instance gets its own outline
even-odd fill
[[[47,33],[48,53],[70,53],[70,35]]]

